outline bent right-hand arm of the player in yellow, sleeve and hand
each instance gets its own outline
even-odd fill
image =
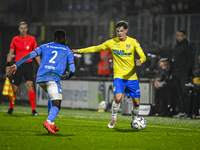
[[[135,41],[135,50],[140,56],[140,59],[135,59],[135,63],[137,66],[141,66],[146,61],[146,56],[138,41]]]

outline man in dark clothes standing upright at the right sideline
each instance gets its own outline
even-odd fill
[[[177,32],[177,44],[173,48],[174,77],[180,100],[180,112],[174,118],[188,117],[188,94],[186,84],[191,82],[192,68],[194,64],[193,49],[189,45],[184,30]]]

